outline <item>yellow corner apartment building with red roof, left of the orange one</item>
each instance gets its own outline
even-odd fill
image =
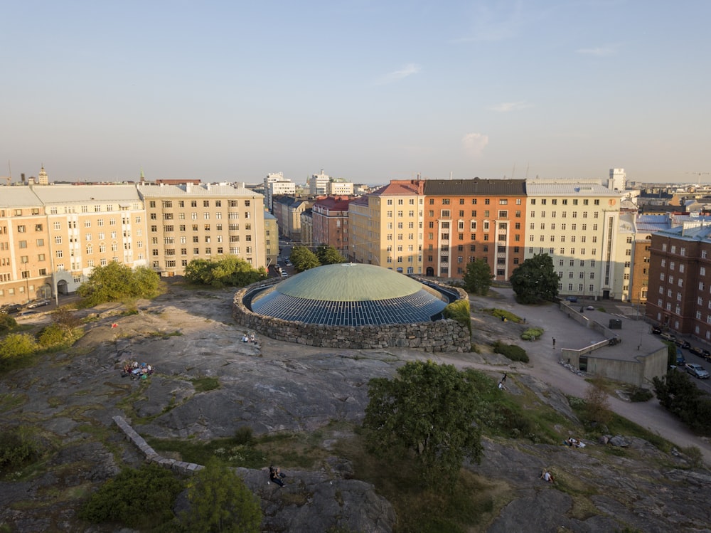
[[[348,235],[353,259],[422,274],[423,209],[424,181],[420,179],[393,179],[362,200],[351,202]]]

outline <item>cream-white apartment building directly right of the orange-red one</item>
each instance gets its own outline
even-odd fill
[[[550,255],[561,295],[620,299],[614,280],[620,193],[599,180],[526,180],[524,258]]]

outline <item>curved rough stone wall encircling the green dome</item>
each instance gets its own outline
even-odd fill
[[[387,347],[417,348],[425,352],[469,352],[469,329],[454,320],[436,320],[415,324],[384,324],[379,326],[324,326],[290,322],[257,315],[243,303],[245,295],[264,283],[255,283],[235,293],[232,316],[245,329],[271,339],[321,348],[383,349]],[[451,289],[450,289],[451,290]],[[457,290],[461,293],[466,292]]]

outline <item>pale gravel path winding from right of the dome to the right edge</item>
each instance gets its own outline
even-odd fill
[[[492,302],[491,300],[471,297],[472,305],[478,305],[479,307],[492,307],[492,305],[495,305],[495,307],[510,310],[520,317],[526,317],[527,322],[532,326],[540,326],[545,329],[540,341],[526,344],[525,348],[531,364],[525,369],[517,369],[516,371],[520,371],[522,374],[531,374],[565,394],[583,397],[587,389],[587,382],[584,381],[582,376],[572,373],[558,362],[560,349],[577,346],[579,339],[588,340],[589,337],[592,339],[591,335],[594,336],[596,333],[574,322],[574,320],[568,319],[555,305],[540,307],[519,305],[513,298],[512,290],[496,289],[496,292],[501,295],[501,300]],[[552,348],[553,337],[556,339],[555,350]],[[438,359],[444,360],[447,357],[443,356]],[[487,364],[467,364],[456,360],[453,360],[451,364],[456,364],[456,366],[475,366],[488,371],[496,369],[496,367]],[[510,371],[510,368],[502,366],[501,371]],[[704,454],[705,462],[711,465],[711,444],[708,440],[694,435],[686,426],[680,423],[678,418],[665,411],[656,399],[651,399],[645,403],[631,403],[616,397],[610,397],[609,400],[613,411],[638,423],[649,431],[683,448],[697,446]]]

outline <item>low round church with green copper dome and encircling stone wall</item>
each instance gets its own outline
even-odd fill
[[[469,329],[442,315],[462,297],[463,290],[387,268],[341,263],[245,287],[235,295],[233,315],[262,335],[310,346],[463,352]]]

